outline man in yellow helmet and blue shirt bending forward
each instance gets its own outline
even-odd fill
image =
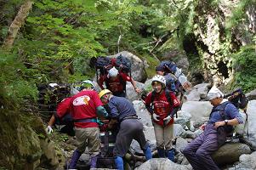
[[[143,124],[139,122],[133,104],[128,99],[112,95],[108,89],[102,90],[99,97],[102,103],[108,104],[111,109],[109,113],[111,117],[109,128],[115,123],[120,125],[113,150],[114,156],[117,156],[115,159],[117,169],[123,169],[122,157],[128,152],[133,139],[138,141],[140,148],[144,151],[146,160],[151,159],[151,149],[145,140]]]

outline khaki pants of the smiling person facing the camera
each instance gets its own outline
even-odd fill
[[[173,148],[174,124],[162,127],[154,122],[153,125],[156,135],[156,147],[171,150]]]

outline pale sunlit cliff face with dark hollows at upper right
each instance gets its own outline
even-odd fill
[[[183,46],[192,72],[217,84],[230,82],[238,71],[233,54],[250,44],[256,32],[253,1],[200,1],[191,4],[193,25]]]

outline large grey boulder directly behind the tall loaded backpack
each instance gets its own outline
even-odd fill
[[[139,57],[129,53],[128,51],[122,51],[118,54],[110,55],[109,57],[117,58],[117,56],[119,55],[122,55],[123,57],[127,57],[132,62],[131,70],[132,70],[132,77],[134,78],[134,80],[138,82],[145,82],[147,75],[145,72],[145,65],[143,60],[139,59]]]

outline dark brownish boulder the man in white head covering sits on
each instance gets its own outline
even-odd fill
[[[250,153],[251,150],[247,144],[228,143],[224,144],[219,150],[213,153],[213,160],[218,165],[232,164],[239,161],[239,156],[242,156],[242,154]]]

